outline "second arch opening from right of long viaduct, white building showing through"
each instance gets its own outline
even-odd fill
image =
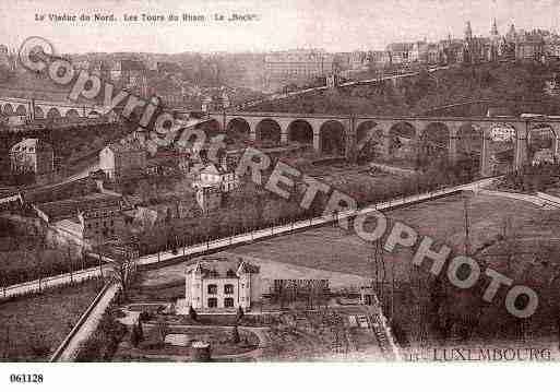
[[[502,175],[515,170],[517,130],[511,123],[491,123],[485,134],[485,175]]]

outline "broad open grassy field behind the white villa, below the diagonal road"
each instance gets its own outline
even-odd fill
[[[457,195],[392,211],[386,213],[389,227],[398,221],[416,228],[421,235],[431,236],[439,243],[445,242],[461,251],[465,238],[463,205],[463,198]],[[508,217],[513,218],[514,225],[531,231],[526,223],[538,222],[546,213],[525,202],[485,195],[470,198],[468,205],[473,249],[501,233]],[[535,227],[534,230],[539,229]],[[546,229],[541,234],[551,235],[552,231]],[[240,246],[230,252],[361,276],[371,276],[373,272],[373,246],[354,233],[331,226]],[[410,251],[384,253],[383,257],[388,265],[395,262],[395,277],[398,281],[408,281]],[[390,276],[391,271],[388,271],[388,278]]]

